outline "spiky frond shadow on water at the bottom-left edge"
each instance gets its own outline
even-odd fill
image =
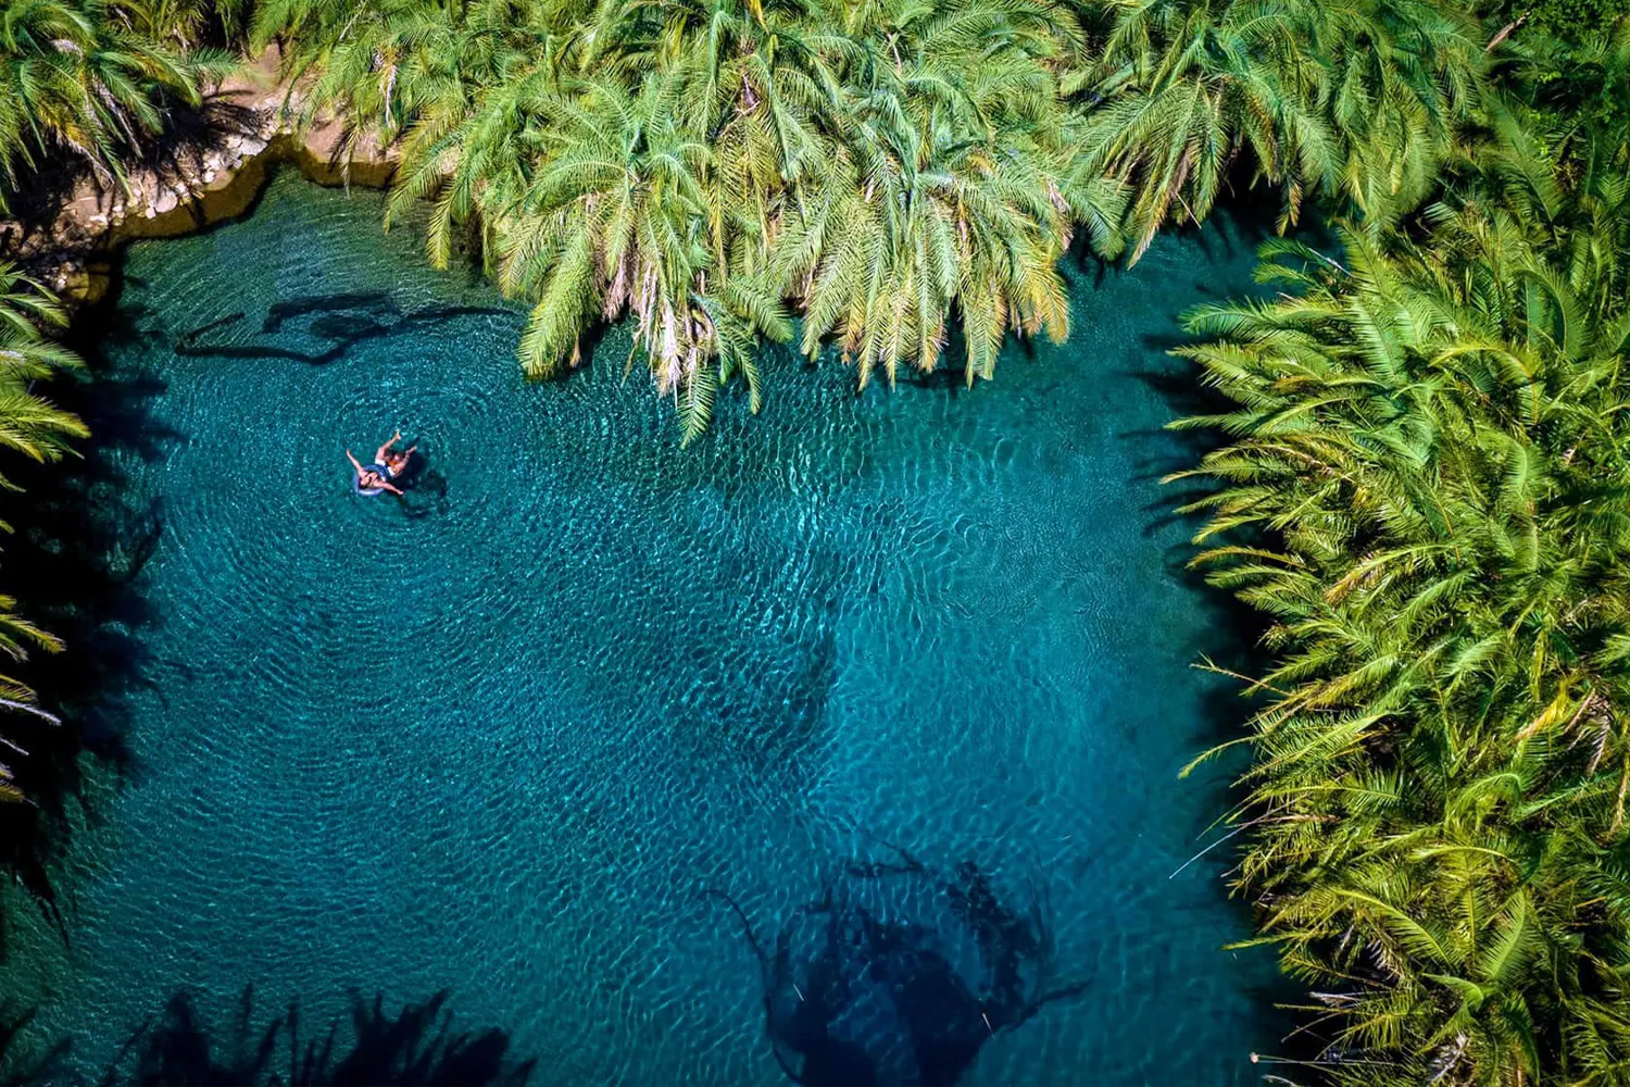
[[[70,1043],[16,1053],[21,1020],[0,1022],[0,1087],[80,1084],[64,1061]],[[10,1051],[8,1051],[10,1050]],[[350,1015],[302,1030],[298,1007],[261,1023],[246,988],[233,1022],[204,1022],[186,991],[143,1023],[101,1077],[101,1087],[523,1087],[535,1059],[517,1059],[497,1028],[458,1032],[447,992],[396,1015],[383,999],[352,997]]]

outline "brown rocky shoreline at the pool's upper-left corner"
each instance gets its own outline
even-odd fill
[[[236,218],[274,165],[293,165],[318,184],[385,186],[394,153],[362,147],[342,156],[339,121],[302,124],[303,95],[279,80],[279,59],[274,46],[205,95],[200,116],[210,127],[161,168],[134,171],[126,186],[82,179],[44,230],[0,220],[0,259],[28,266],[65,301],[95,301],[108,290],[117,246]]]

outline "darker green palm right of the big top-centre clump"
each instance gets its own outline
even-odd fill
[[[1097,103],[1094,168],[1136,187],[1133,259],[1169,220],[1200,222],[1240,155],[1281,192],[1392,222],[1431,194],[1480,104],[1477,24],[1418,0],[1262,5],[1105,0],[1094,62],[1066,86]]]

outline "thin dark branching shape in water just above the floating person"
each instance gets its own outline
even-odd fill
[[[191,332],[183,332],[174,341],[174,352],[202,359],[289,359],[323,367],[344,359],[352,347],[365,341],[403,336],[456,318],[513,316],[513,313],[499,306],[421,306],[403,313],[383,292],[315,295],[272,305],[266,311],[266,319],[261,321],[261,334],[289,334],[285,324],[308,318],[305,328],[293,331],[316,341],[328,341],[321,350],[298,350],[271,342],[205,342],[209,334],[235,328],[244,316],[235,313]]]

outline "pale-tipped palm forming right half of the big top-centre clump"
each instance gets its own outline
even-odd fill
[[[1068,334],[1058,261],[1073,228],[1120,244],[1121,189],[1079,165],[1051,62],[1071,42],[1045,5],[880,3],[851,15],[825,111],[833,168],[797,192],[774,254],[804,311],[804,349],[835,336],[864,385],[877,367],[939,363],[960,318],[967,380],[1004,334]],[[846,55],[848,54],[848,55]]]

